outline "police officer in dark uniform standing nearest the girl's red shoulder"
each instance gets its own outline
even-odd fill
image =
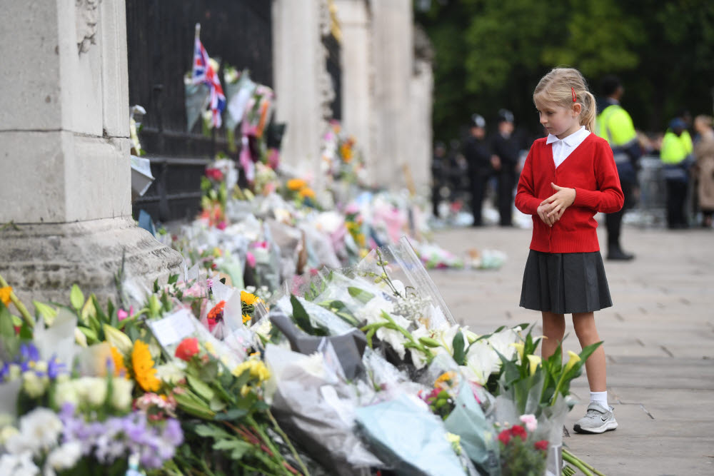
[[[498,131],[491,138],[491,166],[498,181],[498,216],[501,226],[513,226],[513,188],[516,186],[518,140],[513,136],[513,113],[498,111]]]

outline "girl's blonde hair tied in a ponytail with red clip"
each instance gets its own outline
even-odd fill
[[[575,92],[575,101],[573,101]],[[580,125],[585,126],[590,132],[595,132],[595,96],[588,90],[588,83],[574,68],[554,68],[538,81],[533,91],[533,102],[541,104],[555,104],[570,108],[574,103],[579,103]]]

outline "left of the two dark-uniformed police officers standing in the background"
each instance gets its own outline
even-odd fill
[[[479,114],[471,116],[469,136],[463,143],[463,156],[468,163],[468,178],[471,182],[473,226],[481,226],[483,192],[491,174],[491,153],[486,143],[486,120]]]

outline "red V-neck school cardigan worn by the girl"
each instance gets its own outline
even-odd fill
[[[536,211],[540,202],[555,193],[550,182],[575,188],[575,201],[550,228]],[[545,253],[588,253],[599,251],[595,213],[613,213],[623,207],[623,191],[605,139],[590,133],[555,168],[553,145],[545,138],[533,143],[518,181],[516,208],[533,215],[531,250]]]

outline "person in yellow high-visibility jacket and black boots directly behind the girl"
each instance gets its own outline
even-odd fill
[[[638,159],[642,155],[640,144],[632,118],[620,106],[620,98],[624,88],[615,76],[605,76],[602,81],[604,100],[598,104],[601,110],[595,126],[598,136],[606,139],[613,149],[615,165],[620,176],[620,186],[625,195],[623,208],[615,213],[605,216],[605,225],[608,228],[608,260],[631,260],[635,257],[632,253],[625,253],[620,247],[620,233],[622,231],[623,215],[628,208],[634,206],[634,191],[637,187]]]

